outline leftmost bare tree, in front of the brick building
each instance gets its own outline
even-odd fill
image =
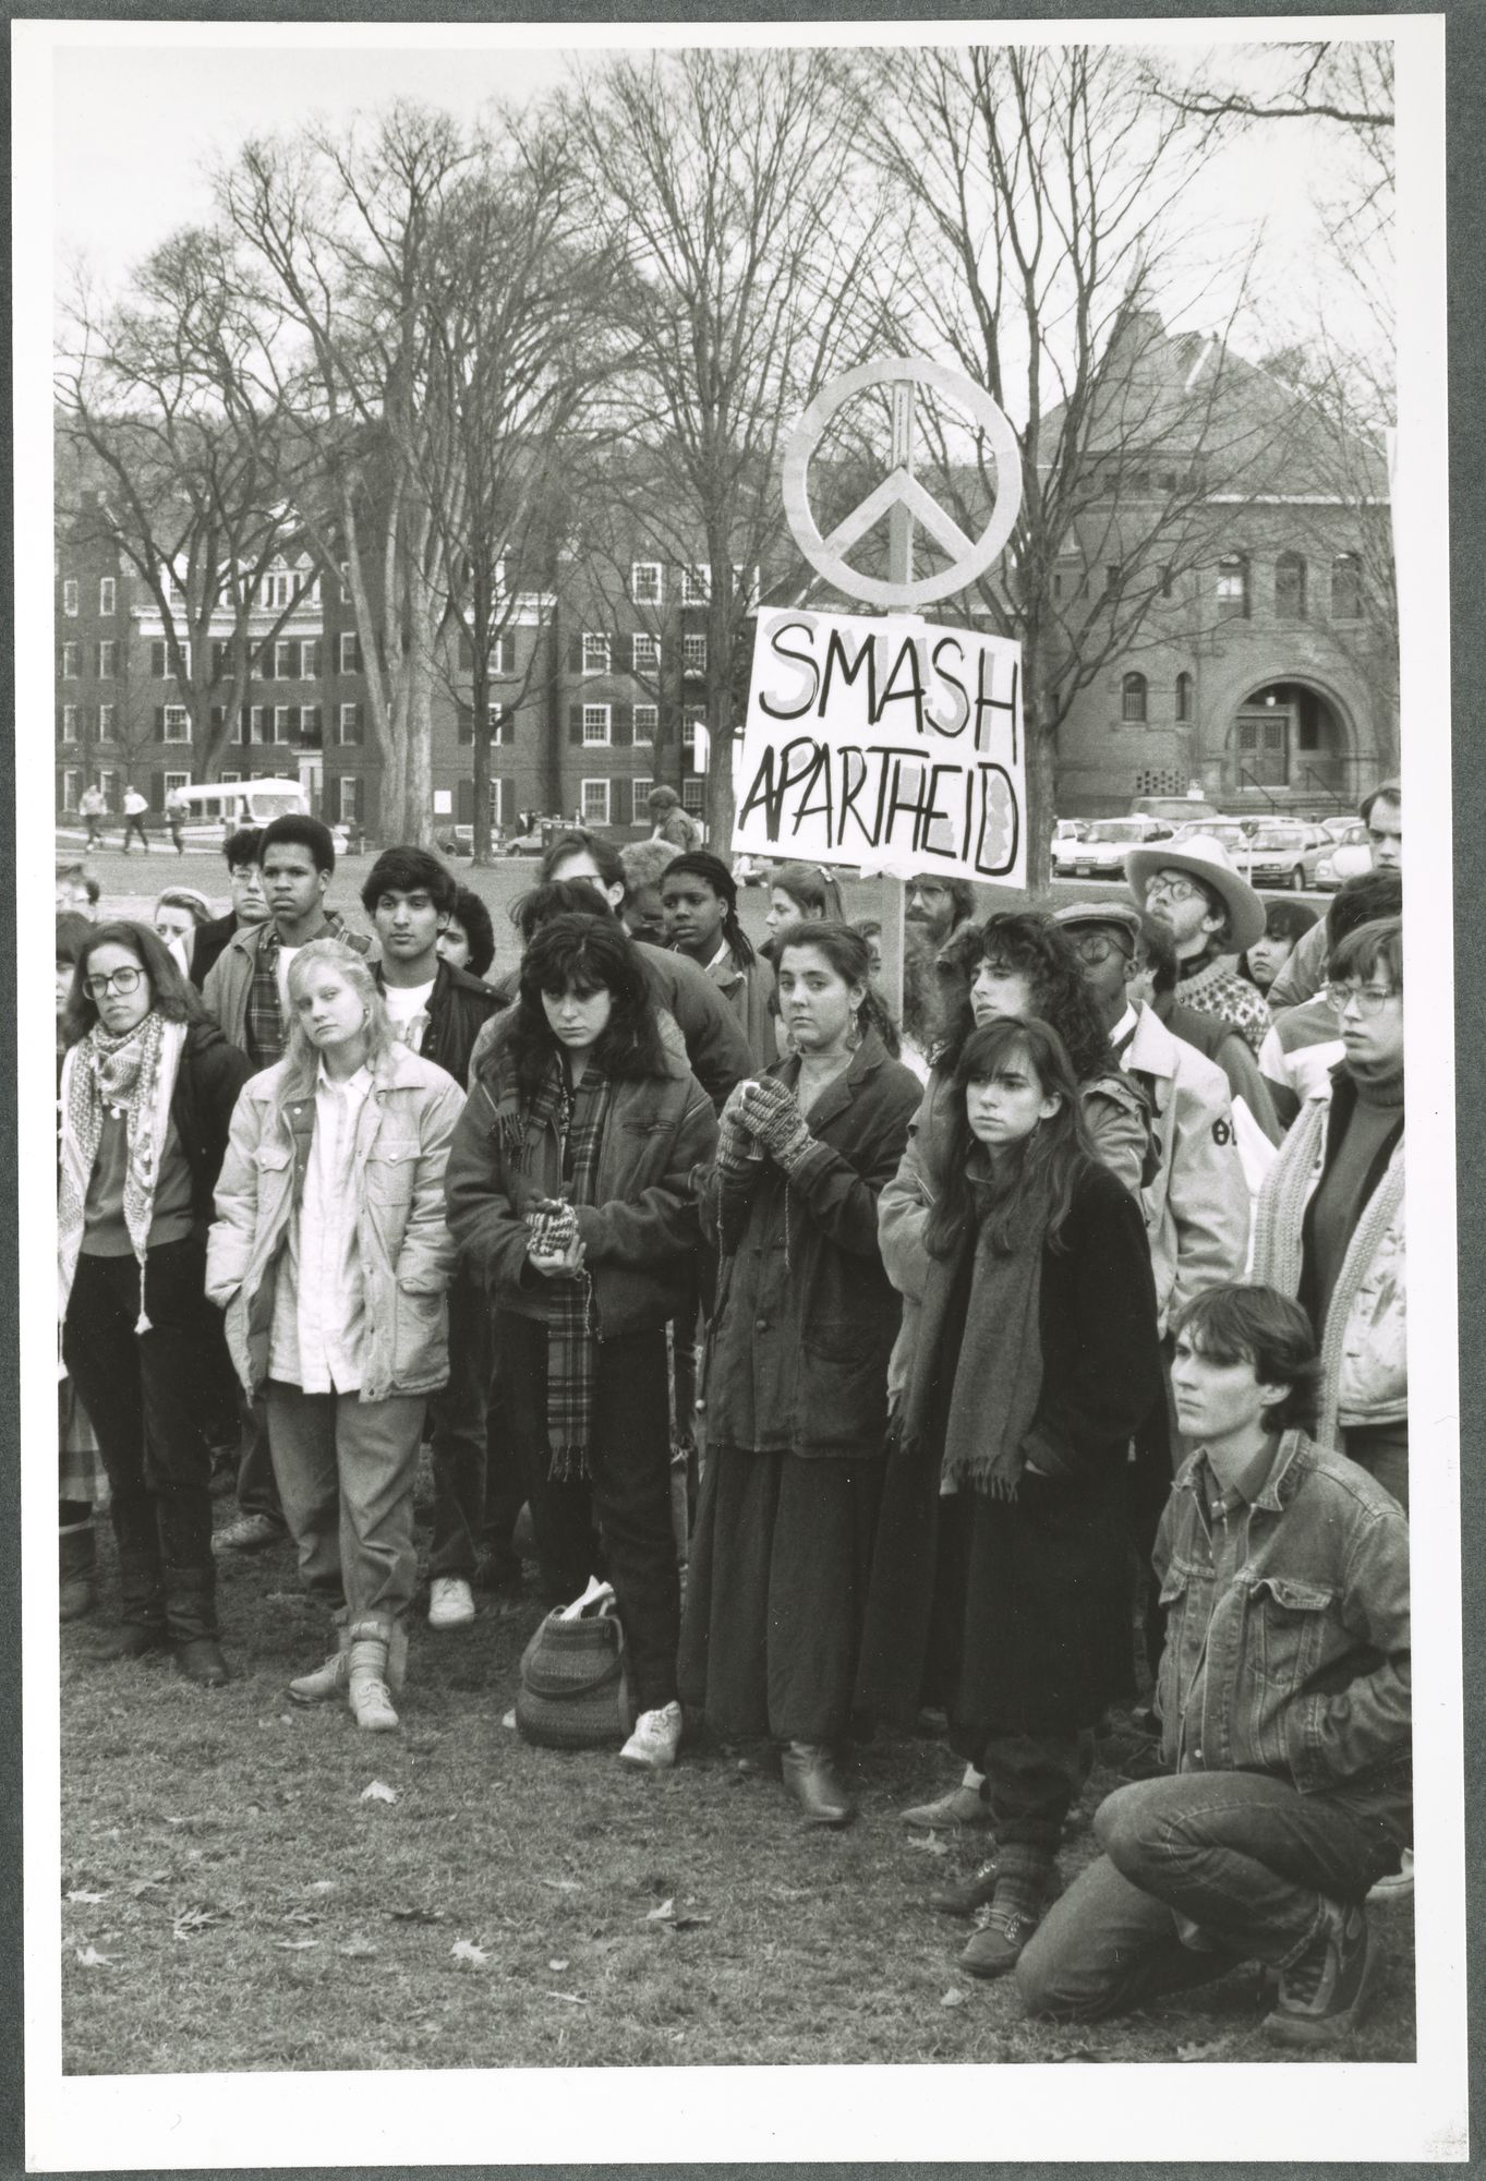
[[[185,229],[139,266],[120,303],[76,277],[54,371],[63,436],[98,484],[92,534],[155,604],[207,781],[259,648],[318,578],[303,565],[281,604],[264,608],[264,578],[301,558],[303,526],[285,499],[283,419],[244,373],[259,342],[224,238]]]

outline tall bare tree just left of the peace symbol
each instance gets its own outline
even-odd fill
[[[564,124],[632,356],[610,414],[651,486],[643,513],[630,502],[634,558],[689,569],[704,613],[708,798],[726,853],[752,574],[784,550],[782,441],[819,384],[865,353],[872,192],[828,52],[623,59],[582,83]],[[665,737],[667,707],[660,774]]]

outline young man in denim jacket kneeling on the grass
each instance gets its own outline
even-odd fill
[[[1028,2013],[1089,2020],[1259,1961],[1281,2044],[1362,2017],[1362,1902],[1412,1839],[1408,1520],[1301,1429],[1316,1372],[1270,1287],[1214,1287],[1177,1322],[1194,1453],[1155,1549],[1170,1778],[1100,1804],[1103,1856],[1018,1963]]]

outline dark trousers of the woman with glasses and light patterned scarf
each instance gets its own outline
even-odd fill
[[[211,1455],[196,1424],[198,1354],[209,1333],[203,1280],[205,1252],[194,1237],[148,1250],[148,1333],[135,1333],[135,1256],[78,1256],[68,1298],[63,1361],[98,1435],[122,1557],[129,1540],[126,1618],[135,1618],[133,1588],[142,1596],[157,1588],[161,1562],[211,1570]]]

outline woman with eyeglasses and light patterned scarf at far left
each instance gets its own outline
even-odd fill
[[[65,1010],[57,1311],[109,1472],[122,1616],[96,1658],[170,1649],[227,1682],[200,1435],[205,1241],[248,1060],[155,931],[98,925]]]

